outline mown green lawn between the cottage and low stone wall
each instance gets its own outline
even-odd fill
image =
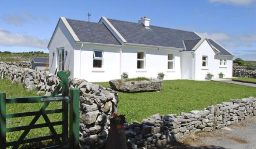
[[[95,83],[110,87],[108,82]],[[256,97],[255,87],[215,81],[167,80],[160,92],[118,92],[118,113],[125,114],[129,122],[141,121],[156,113],[203,110],[207,106],[230,102],[230,99]]]

